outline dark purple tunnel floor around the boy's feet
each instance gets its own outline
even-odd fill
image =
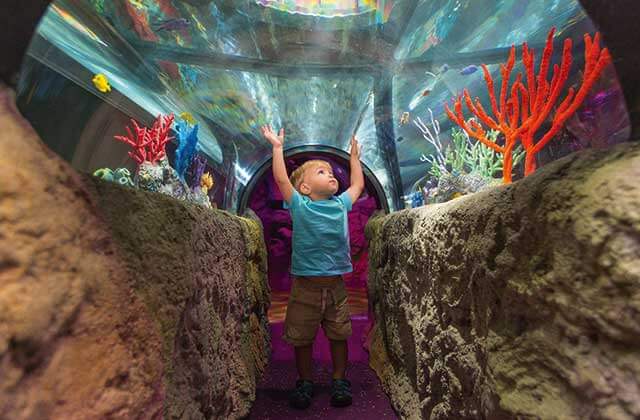
[[[258,383],[256,401],[248,419],[397,419],[382,390],[375,372],[369,367],[369,355],[363,348],[370,327],[367,315],[366,289],[347,288],[353,334],[349,339],[349,365],[347,379],[351,381],[353,404],[334,408],[331,398],[331,356],[329,343],[322,329],[313,347],[315,396],[306,410],[289,407],[289,392],[297,379],[293,349],[282,341],[284,314],[288,292],[273,292],[269,321],[271,328],[271,362]]]

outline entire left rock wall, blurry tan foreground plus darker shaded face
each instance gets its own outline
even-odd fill
[[[247,415],[270,348],[259,224],[76,175],[6,91],[0,127],[0,412]]]

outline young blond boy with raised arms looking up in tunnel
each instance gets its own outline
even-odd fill
[[[270,126],[263,126],[261,131],[273,146],[273,176],[293,220],[293,286],[283,340],[295,348],[300,378],[289,402],[295,408],[307,408],[311,404],[311,354],[318,325],[321,324],[331,344],[331,405],[346,407],[351,404],[351,383],[345,378],[351,318],[341,275],[353,270],[347,212],[364,189],[360,148],[353,137],[351,185],[336,197],[338,181],[328,162],[307,161],[289,179],[283,154],[284,129],[280,129],[279,135]]]

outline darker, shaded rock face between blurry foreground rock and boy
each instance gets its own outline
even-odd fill
[[[159,323],[166,417],[248,414],[270,349],[259,225],[162,194],[90,177],[86,182],[134,289]]]

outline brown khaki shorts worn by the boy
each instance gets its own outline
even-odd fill
[[[310,345],[318,325],[330,340],[351,336],[347,291],[341,276],[293,279],[282,339],[296,347]]]

